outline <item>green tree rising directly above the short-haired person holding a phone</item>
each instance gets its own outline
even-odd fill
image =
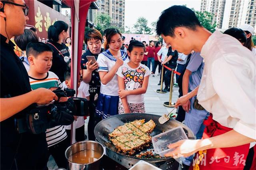
[[[111,18],[107,14],[100,14],[96,17],[96,29],[103,34],[106,28],[110,28]]]

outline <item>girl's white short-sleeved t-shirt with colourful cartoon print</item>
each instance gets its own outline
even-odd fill
[[[150,75],[150,70],[144,64],[140,64],[139,67],[133,69],[129,67],[128,63],[124,63],[118,68],[116,74],[124,78],[124,85],[126,90],[135,90],[142,87],[143,79]],[[144,94],[141,95],[128,95],[128,103],[143,103]]]

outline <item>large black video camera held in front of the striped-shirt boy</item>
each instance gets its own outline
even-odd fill
[[[33,134],[46,132],[47,128],[58,125],[70,125],[74,121],[73,116],[88,115],[88,101],[84,98],[73,97],[76,93],[73,89],[56,89],[53,91],[58,99],[70,97],[68,101],[54,101],[50,105],[33,108],[24,119],[18,119],[17,130],[19,133],[30,131]]]

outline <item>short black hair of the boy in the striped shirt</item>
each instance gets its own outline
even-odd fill
[[[46,45],[46,43],[42,42],[30,42],[28,43],[26,47],[26,55],[33,55],[34,57],[37,57],[40,55],[40,53],[43,53],[45,51],[53,52],[52,49]]]

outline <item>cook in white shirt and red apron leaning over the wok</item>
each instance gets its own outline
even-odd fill
[[[243,169],[236,158],[246,158],[250,142],[256,140],[254,55],[235,38],[203,28],[185,6],[164,10],[156,32],[174,50],[186,55],[192,50],[201,52],[205,66],[197,99],[212,113],[202,139],[171,144],[175,149],[166,156],[187,157],[199,151],[193,164],[196,169]],[[185,98],[190,99],[192,93]]]

